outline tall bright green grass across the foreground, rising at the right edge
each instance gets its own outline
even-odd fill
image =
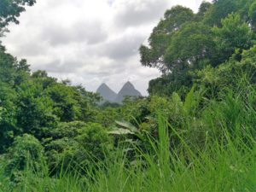
[[[253,97],[254,98],[254,97]],[[84,170],[72,170],[49,177],[31,165],[14,185],[4,177],[0,162],[0,191],[17,192],[253,192],[256,191],[255,108],[251,97],[226,96],[213,103],[202,117],[215,134],[205,137],[204,148],[195,150],[187,137],[177,132],[162,116],[158,138],[148,137],[152,150],[137,148],[137,160],[125,158],[122,148],[112,158]],[[214,110],[213,110],[213,109]],[[212,113],[211,113],[212,112]],[[218,119],[218,123],[217,120]],[[191,129],[193,126],[190,126]],[[207,131],[206,131],[207,132]],[[216,134],[218,134],[217,137]],[[175,135],[183,148],[171,147]],[[45,165],[46,166],[46,165]]]

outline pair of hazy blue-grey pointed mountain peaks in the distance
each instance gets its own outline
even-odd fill
[[[119,91],[119,94],[116,94],[113,90],[111,90],[107,84],[101,84],[101,86],[96,90],[102,98],[103,102],[123,102],[125,96],[142,96],[142,94],[135,89],[131,82],[127,82],[124,84],[122,89]],[[102,102],[101,102],[102,103]]]

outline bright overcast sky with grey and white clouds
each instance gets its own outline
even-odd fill
[[[147,95],[157,69],[142,67],[140,44],[166,9],[182,4],[195,12],[202,0],[37,0],[3,38],[9,53],[26,58],[32,71],[46,70],[86,90],[107,83],[119,91],[128,80]]]

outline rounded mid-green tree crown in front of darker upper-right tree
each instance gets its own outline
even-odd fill
[[[215,46],[211,33],[210,27],[197,22],[181,27],[166,49],[165,62],[168,69],[173,73],[177,68],[184,71],[183,68],[200,65],[205,58],[210,59]]]

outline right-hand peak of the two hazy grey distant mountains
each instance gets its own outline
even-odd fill
[[[142,94],[128,81],[119,91],[118,96],[115,98],[115,102],[123,102],[125,96],[142,96]]]

